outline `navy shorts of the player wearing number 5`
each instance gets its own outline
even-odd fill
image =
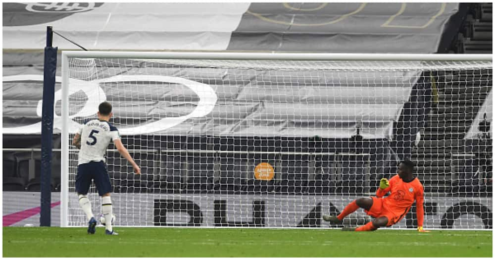
[[[103,161],[90,161],[77,166],[76,192],[86,195],[90,190],[91,180],[95,180],[99,196],[112,191],[110,177]]]

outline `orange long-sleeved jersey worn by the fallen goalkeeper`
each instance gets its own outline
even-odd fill
[[[418,178],[414,178],[411,182],[404,182],[399,175],[392,177],[389,180],[390,186],[387,189],[376,191],[376,197],[382,198],[389,191],[390,195],[383,199],[383,205],[389,211],[396,215],[404,216],[416,201],[416,216],[418,218],[418,226],[423,226],[424,218],[424,193],[423,185]]]

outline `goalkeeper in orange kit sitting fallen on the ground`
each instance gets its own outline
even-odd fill
[[[363,208],[364,211],[374,217],[373,221],[360,227],[344,227],[345,231],[374,231],[380,227],[392,226],[399,222],[409,211],[416,200],[416,214],[418,218],[418,231],[423,230],[423,185],[418,178],[412,175],[413,163],[403,160],[399,163],[398,173],[389,180],[380,180],[380,187],[376,191],[376,197],[359,198],[349,203],[338,216],[323,215],[325,221],[333,224],[342,224],[342,220],[348,214]],[[383,198],[388,192],[390,195]]]

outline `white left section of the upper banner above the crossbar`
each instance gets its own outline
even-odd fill
[[[25,5],[25,10],[23,6],[9,13],[3,10],[4,17],[15,12],[11,20],[24,20],[16,26],[4,24],[4,49],[42,49],[46,28],[53,26],[90,50],[226,50],[249,7],[249,3]],[[53,38],[59,49],[75,48],[59,36]]]

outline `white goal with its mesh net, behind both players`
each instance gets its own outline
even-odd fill
[[[84,226],[77,129],[110,122],[117,226],[340,227],[400,160],[425,228],[492,228],[492,61],[483,55],[63,52],[61,225]],[[56,122],[55,122],[56,123]],[[101,212],[93,186],[93,212]],[[393,228],[416,227],[415,207]],[[361,209],[344,225],[371,218]]]

